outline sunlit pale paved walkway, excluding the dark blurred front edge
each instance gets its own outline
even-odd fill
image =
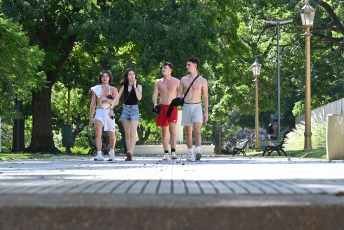
[[[91,157],[0,162],[0,194],[344,194],[344,161]]]

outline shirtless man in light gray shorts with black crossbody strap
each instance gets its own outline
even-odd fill
[[[191,57],[187,59],[186,69],[189,75],[182,77],[177,97],[183,97],[191,82],[198,76],[197,70],[200,66],[198,58]],[[202,95],[204,114],[202,112]],[[208,82],[202,76],[199,76],[191,86],[186,98],[184,98],[182,115],[182,126],[186,130],[186,145],[189,153],[187,160],[195,161],[192,149],[192,130],[195,133],[195,151],[196,160],[200,160],[201,155],[201,127],[202,123],[208,121]]]

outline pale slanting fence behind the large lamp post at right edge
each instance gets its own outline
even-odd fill
[[[312,119],[326,121],[328,114],[344,114],[344,98],[312,110]],[[295,118],[295,124],[305,122],[305,114]]]

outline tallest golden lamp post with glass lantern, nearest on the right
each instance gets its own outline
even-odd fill
[[[306,38],[306,95],[305,95],[305,146],[304,151],[312,149],[312,131],[311,131],[311,32],[313,27],[315,9],[306,4],[300,10],[302,26],[306,28],[303,34]]]

